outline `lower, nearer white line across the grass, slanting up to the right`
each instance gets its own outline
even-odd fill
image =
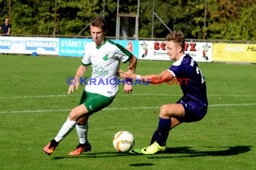
[[[240,103],[240,104],[215,104],[208,105],[209,107],[216,106],[252,106],[256,103]],[[159,109],[160,107],[113,107],[113,108],[104,108],[103,110],[128,110],[128,109]],[[57,109],[57,110],[20,110],[20,111],[0,111],[1,113],[30,113],[30,112],[52,112],[52,111],[70,111],[71,109]]]

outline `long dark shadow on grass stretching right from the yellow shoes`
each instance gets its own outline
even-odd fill
[[[173,157],[204,157],[204,156],[230,156],[238,155],[240,153],[246,153],[251,151],[252,146],[234,146],[234,147],[206,147],[206,148],[221,148],[221,150],[215,151],[197,151],[191,149],[191,147],[178,147],[178,148],[167,148],[165,152],[159,154],[177,154],[184,153],[186,155],[170,156],[170,157],[148,157],[149,159],[154,158],[173,158]]]

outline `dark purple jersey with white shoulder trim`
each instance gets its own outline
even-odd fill
[[[206,84],[204,76],[198,67],[198,64],[188,54],[174,62],[169,71],[178,79],[182,79],[180,84],[183,97],[182,102],[199,102],[202,106],[207,106]],[[186,83],[184,82],[185,79]]]

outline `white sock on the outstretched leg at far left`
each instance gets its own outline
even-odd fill
[[[57,142],[64,139],[75,127],[77,121],[71,121],[68,117],[66,122],[62,125],[61,130],[58,132],[57,136],[54,138]]]

